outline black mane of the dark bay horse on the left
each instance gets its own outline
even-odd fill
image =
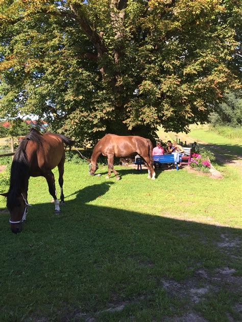
[[[7,207],[11,210],[14,206],[18,206],[16,197],[27,188],[29,180],[30,165],[26,154],[26,146],[28,141],[34,141],[41,145],[42,134],[35,128],[32,128],[28,135],[20,142],[13,158],[10,175],[10,187],[7,196]]]

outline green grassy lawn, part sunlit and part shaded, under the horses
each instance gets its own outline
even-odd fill
[[[116,181],[68,162],[61,214],[31,178],[18,235],[0,199],[0,321],[240,320],[241,176],[217,168],[222,180],[180,169],[153,181],[117,166]]]

